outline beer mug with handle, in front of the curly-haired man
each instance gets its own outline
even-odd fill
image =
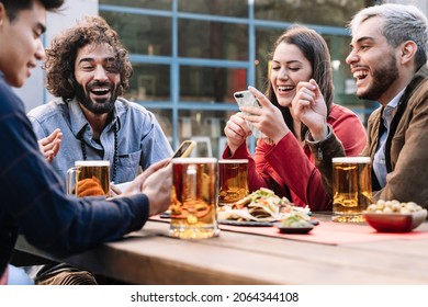
[[[67,170],[67,194],[79,197],[110,195],[110,161],[76,161]]]

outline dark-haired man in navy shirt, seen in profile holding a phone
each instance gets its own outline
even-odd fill
[[[168,159],[150,166],[121,197],[104,200],[66,195],[64,182],[41,155],[24,104],[11,87],[22,87],[45,58],[46,11],[63,2],[0,0],[0,140],[7,146],[0,150],[0,284],[33,283],[9,264],[19,234],[65,257],[138,230],[170,204]],[[110,92],[112,87],[99,89]]]

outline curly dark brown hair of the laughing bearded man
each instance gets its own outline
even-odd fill
[[[87,16],[76,26],[58,34],[46,49],[46,89],[65,101],[76,94],[75,61],[77,52],[87,45],[109,44],[115,54],[116,71],[121,76],[122,94],[129,87],[133,68],[128,52],[119,39],[117,33],[101,16]]]

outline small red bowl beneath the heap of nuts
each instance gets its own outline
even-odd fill
[[[412,214],[363,212],[365,221],[379,232],[408,232],[427,218],[427,209]]]

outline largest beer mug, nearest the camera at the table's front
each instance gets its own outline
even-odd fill
[[[216,158],[172,159],[169,235],[180,239],[218,236],[217,195]]]

